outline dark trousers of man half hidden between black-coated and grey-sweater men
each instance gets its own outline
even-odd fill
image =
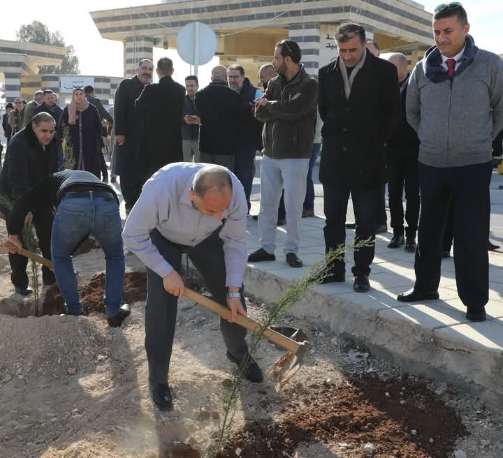
[[[405,189],[405,221],[407,239],[414,239],[419,221],[418,161],[414,155],[396,155],[391,164],[391,179],[388,183],[388,202],[391,227],[394,235],[404,234],[404,211],[402,196]]]

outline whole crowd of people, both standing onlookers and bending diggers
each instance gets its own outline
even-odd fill
[[[82,313],[76,283],[68,279],[72,244],[90,232],[103,239],[107,277],[110,271],[113,279],[110,286],[107,283],[107,296],[113,298],[106,303],[109,323],[120,325],[129,315],[119,291],[124,258],[117,249],[117,195],[100,182],[96,161],[89,161],[101,121],[108,119],[115,128],[114,170],[129,214],[122,239],[147,266],[145,346],[152,399],[160,408],[172,407],[167,374],[176,300],[184,294],[177,273],[181,254],[192,259],[214,296],[227,302],[233,318],[246,313],[245,265],[275,260],[276,228],[282,219],[286,219],[286,263],[302,267],[301,218],[314,214],[311,174],[321,142],[316,130],[323,123],[319,179],[326,251],[345,244],[349,196],[355,241],[371,242],[354,252],[354,290],[370,290],[373,242],[376,232],[383,226],[386,230],[388,182],[393,228],[388,246],[404,246],[415,253],[416,283],[397,299],[438,299],[447,226],[466,316],[485,320],[491,154],[493,147],[501,147],[503,61],[476,47],[468,33],[467,13],[458,2],[435,8],[432,28],[435,45],[413,71],[404,54],[379,58],[379,47],[367,41],[365,29],[347,23],[334,37],[339,57],[319,70],[317,80],[305,71],[298,43],[282,40],[275,46],[272,64],[260,69],[263,91],[251,84],[239,65],[214,67],[211,82],[203,89],[194,75],[185,78],[183,87],[173,80],[173,62],[164,57],[155,68],[159,83],[152,84],[154,64],[148,59],[140,61],[135,76],[122,80],[113,118],[94,98],[92,88],[75,89],[72,103],[62,113],[51,91],[37,91],[24,113],[21,99],[16,99],[8,113],[13,138],[0,185],[18,199],[12,214],[7,214],[17,292],[29,293],[26,272],[22,274],[26,263],[14,259],[22,246],[20,221],[33,219],[44,256],[56,258],[54,272],[60,286],[66,286],[61,289],[66,291],[68,313]],[[74,168],[89,175],[56,173],[44,181],[61,168],[61,142],[54,133],[61,119],[71,133]],[[248,255],[246,221],[258,150],[263,154],[261,247]],[[94,164],[92,170],[89,163]],[[37,191],[29,191],[36,183]],[[47,201],[40,199],[43,193]],[[61,209],[52,226],[52,244],[50,203]],[[77,216],[70,215],[73,205],[82,207],[80,218],[87,226],[73,228],[77,224]],[[104,226],[95,225],[95,212],[109,216],[103,216]],[[64,248],[55,246],[59,225],[75,232]],[[54,281],[50,274],[45,272],[44,282]],[[322,281],[346,281],[344,258],[328,266]],[[261,370],[249,357],[245,333],[233,318],[221,324],[227,356],[238,365],[251,363],[246,376],[259,382]]]

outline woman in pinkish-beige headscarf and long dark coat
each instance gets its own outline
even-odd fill
[[[65,126],[69,136],[66,141],[71,142],[75,158],[73,170],[87,170],[100,178],[101,117],[96,107],[86,100],[83,89],[73,89],[72,101],[61,114],[61,132]]]

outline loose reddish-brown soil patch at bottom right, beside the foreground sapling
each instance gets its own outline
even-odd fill
[[[372,443],[373,457],[441,458],[467,434],[453,408],[424,383],[369,374],[342,386],[298,384],[286,396],[290,402],[276,422],[245,424],[217,457],[234,457],[237,448],[241,458],[284,457],[300,444],[321,441]]]

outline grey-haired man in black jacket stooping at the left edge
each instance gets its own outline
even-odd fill
[[[10,200],[23,195],[31,186],[41,179],[59,170],[57,140],[54,138],[56,121],[48,113],[36,114],[31,122],[10,140],[6,160],[0,175],[0,193]],[[10,209],[2,205],[6,215],[7,226]],[[50,238],[52,228],[52,207],[48,202],[27,215],[26,222],[35,226],[44,258],[50,259]],[[17,293],[29,295],[26,268],[28,259],[18,254],[9,255],[12,274],[10,280]],[[54,274],[48,267],[42,267],[42,278],[45,285],[54,283]]]

